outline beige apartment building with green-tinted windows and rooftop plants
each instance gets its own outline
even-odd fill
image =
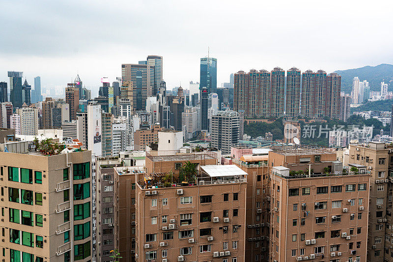
[[[0,152],[1,259],[92,261],[91,152],[47,156],[14,143],[26,150]]]

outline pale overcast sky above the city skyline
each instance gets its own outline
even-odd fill
[[[393,1],[0,0],[0,81],[86,87],[121,76],[121,63],[164,57],[167,87],[199,81],[218,59],[217,83],[239,70],[338,69],[393,63]],[[95,92],[93,92],[95,94]]]

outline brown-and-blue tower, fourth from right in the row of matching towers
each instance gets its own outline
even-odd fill
[[[300,114],[300,70],[292,67],[286,71],[285,116],[297,117]]]

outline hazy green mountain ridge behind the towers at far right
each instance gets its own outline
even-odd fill
[[[354,77],[358,77],[361,81],[367,80],[371,91],[379,91],[382,81],[389,84],[389,91],[393,91],[393,65],[391,64],[337,70],[335,73],[341,76],[341,92],[351,93]]]

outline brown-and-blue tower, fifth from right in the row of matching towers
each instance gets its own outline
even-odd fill
[[[275,67],[271,72],[270,116],[284,115],[285,71]]]

